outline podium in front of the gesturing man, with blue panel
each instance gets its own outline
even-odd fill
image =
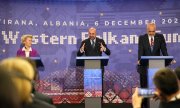
[[[102,106],[102,68],[107,66],[108,56],[76,57],[76,66],[84,66],[85,108]]]

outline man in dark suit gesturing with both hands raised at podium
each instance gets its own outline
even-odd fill
[[[110,55],[111,52],[107,48],[103,39],[96,37],[96,29],[91,27],[89,29],[89,38],[82,41],[77,56],[101,56],[102,52]]]

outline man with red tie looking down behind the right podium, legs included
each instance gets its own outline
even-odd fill
[[[154,23],[147,24],[147,34],[139,36],[138,67],[140,74],[140,87],[147,88],[147,66],[140,63],[141,56],[168,56],[166,42],[162,34],[156,33]],[[147,99],[143,100],[142,108],[148,108]]]

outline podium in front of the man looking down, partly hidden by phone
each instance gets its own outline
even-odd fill
[[[148,66],[148,88],[155,89],[153,84],[154,74],[160,68],[168,66],[173,60],[173,56],[141,56],[140,64]],[[149,108],[158,108],[159,101],[149,100]]]

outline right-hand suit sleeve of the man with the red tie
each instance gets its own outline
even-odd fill
[[[168,56],[167,47],[166,47],[166,41],[164,39],[164,36],[161,35],[161,52],[163,56]]]

